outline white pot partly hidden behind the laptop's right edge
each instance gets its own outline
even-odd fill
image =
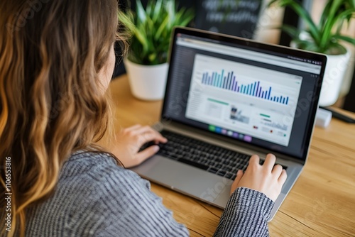
[[[344,55],[327,55],[327,65],[320,91],[320,106],[330,106],[337,101],[350,55],[350,50],[347,50]]]

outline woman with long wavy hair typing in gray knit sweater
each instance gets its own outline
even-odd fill
[[[136,125],[109,150],[96,145],[111,121],[117,1],[1,1],[0,26],[1,235],[188,236],[149,183],[124,169],[156,153],[138,150],[163,136]],[[216,236],[268,235],[286,173],[274,155],[258,159],[237,173]]]

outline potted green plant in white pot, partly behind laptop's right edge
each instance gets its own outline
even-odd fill
[[[293,9],[307,26],[305,30],[293,26],[281,27],[293,38],[291,46],[327,55],[328,60],[320,94],[320,105],[334,104],[339,97],[339,90],[351,55],[350,50],[344,47],[342,42],[355,45],[354,38],[341,33],[345,23],[349,24],[351,18],[355,17],[355,1],[328,0],[319,23],[315,23],[310,13],[297,1],[273,0],[269,6],[275,4]]]

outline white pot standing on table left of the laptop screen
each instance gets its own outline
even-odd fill
[[[138,65],[125,58],[124,66],[134,97],[143,100],[163,99],[168,76],[168,62],[161,65]]]

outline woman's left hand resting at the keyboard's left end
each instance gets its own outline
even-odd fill
[[[153,130],[150,126],[141,126],[137,124],[122,129],[116,135],[116,144],[114,145],[112,153],[119,158],[124,164],[124,167],[133,167],[141,164],[141,162],[158,152],[158,145],[151,145],[138,152],[143,144],[151,141],[158,144],[166,143],[168,140],[161,136],[160,133]]]

